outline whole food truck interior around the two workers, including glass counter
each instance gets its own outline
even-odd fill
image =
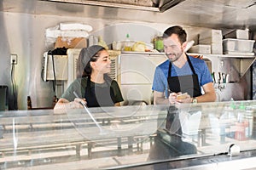
[[[0,0],[0,169],[254,168],[255,11],[255,0]],[[161,35],[176,25],[207,63],[215,102],[153,105]],[[92,44],[108,48],[125,101],[55,115]]]

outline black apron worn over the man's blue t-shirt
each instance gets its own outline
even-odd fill
[[[169,71],[168,71],[168,86],[172,92],[178,93],[188,93],[191,97],[195,98],[197,96],[201,96],[201,88],[199,86],[197,74],[195,74],[195,70],[189,56],[187,56],[189,66],[191,71],[193,72],[192,75],[180,76],[180,77],[171,77],[172,75],[172,62],[169,64]]]

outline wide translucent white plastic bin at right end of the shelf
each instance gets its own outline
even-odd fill
[[[253,52],[254,40],[241,40],[227,38],[223,40],[223,51],[225,52]]]

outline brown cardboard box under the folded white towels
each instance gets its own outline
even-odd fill
[[[86,48],[87,40],[85,37],[57,37],[55,48]]]

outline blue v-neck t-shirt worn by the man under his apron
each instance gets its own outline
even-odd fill
[[[195,74],[198,76],[199,86],[202,87],[203,85],[207,84],[208,82],[212,82],[212,76],[210,71],[208,70],[207,64],[203,59],[197,59],[194,57],[189,56],[191,64],[195,69]],[[162,92],[166,94],[166,98],[168,95],[168,70],[169,70],[169,59],[167,59],[162,64],[158,65],[154,71],[154,81],[152,90],[157,92]],[[186,76],[192,75],[192,71],[189,67],[188,61],[183,65],[182,68],[178,68],[176,65],[172,65],[172,75],[171,77],[177,76]]]

